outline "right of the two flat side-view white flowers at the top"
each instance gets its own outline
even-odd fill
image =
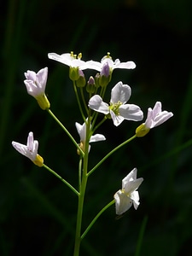
[[[95,69],[99,72],[102,71],[102,68],[108,63],[108,66],[113,71],[115,68],[124,68],[124,69],[133,69],[136,67],[136,64],[133,61],[120,62],[119,59],[115,61],[112,60],[110,53],[102,58],[101,62],[98,61],[87,61],[86,64],[89,68]]]

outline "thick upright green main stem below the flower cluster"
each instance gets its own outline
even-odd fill
[[[82,173],[82,181],[80,191],[79,191],[79,202],[78,202],[78,214],[77,214],[77,224],[76,224],[76,234],[75,234],[75,245],[73,256],[79,256],[79,249],[81,243],[81,226],[82,226],[82,216],[84,208],[84,194],[87,184],[87,170],[88,170],[88,154],[89,154],[89,137],[90,137],[90,118],[86,124],[86,139],[84,145],[84,165]]]

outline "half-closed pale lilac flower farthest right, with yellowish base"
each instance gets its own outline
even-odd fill
[[[172,112],[162,111],[161,102],[156,102],[154,108],[148,108],[148,116],[146,121],[137,127],[137,137],[145,136],[150,129],[163,124],[167,119],[173,116]]]

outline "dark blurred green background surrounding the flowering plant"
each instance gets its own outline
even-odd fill
[[[9,0],[1,3],[0,29],[0,255],[73,255],[76,196],[11,146],[13,140],[26,143],[33,131],[45,164],[78,184],[76,149],[23,84],[27,69],[49,67],[51,109],[79,140],[74,123],[82,119],[68,67],[47,57],[71,50],[82,52],[85,61],[100,61],[108,51],[113,60],[135,61],[135,70],[115,70],[110,86],[130,84],[130,102],[143,109],[144,118],[156,101],[174,113],[90,176],[84,228],[134,167],[144,182],[137,211],[132,207],[116,220],[110,207],[85,237],[81,255],[192,254],[192,2]],[[108,120],[99,131],[107,141],[92,145],[90,167],[137,125],[125,121],[116,128]]]

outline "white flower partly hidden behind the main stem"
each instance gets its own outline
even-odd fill
[[[85,140],[86,140],[86,124],[84,123],[83,125],[80,125],[78,122],[76,122],[75,126],[77,128],[77,131],[80,137],[79,146],[84,151]],[[89,143],[96,143],[96,142],[105,141],[105,140],[106,140],[106,137],[104,137],[102,134],[96,134],[96,135],[90,136]],[[90,151],[90,145],[89,145],[89,151]]]

